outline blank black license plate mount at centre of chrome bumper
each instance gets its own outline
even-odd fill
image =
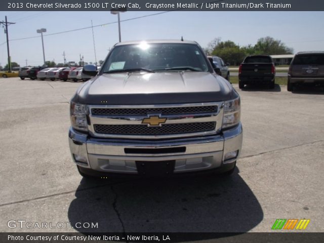
[[[135,161],[137,172],[141,176],[169,176],[173,174],[176,160]]]

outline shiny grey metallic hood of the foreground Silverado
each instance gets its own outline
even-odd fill
[[[84,104],[119,105],[200,103],[229,100],[232,93],[227,80],[209,72],[107,73],[85,83],[74,101],[77,98]]]

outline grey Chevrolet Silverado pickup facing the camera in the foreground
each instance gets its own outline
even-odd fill
[[[70,102],[82,176],[230,174],[242,146],[240,98],[196,42],[116,44]]]

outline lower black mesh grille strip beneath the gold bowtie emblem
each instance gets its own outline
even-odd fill
[[[171,135],[199,133],[214,130],[215,121],[204,123],[163,124],[161,127],[148,127],[147,125],[94,125],[94,130],[99,134],[118,135]]]

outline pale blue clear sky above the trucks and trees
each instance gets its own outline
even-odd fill
[[[121,20],[161,12],[126,12]],[[43,51],[40,34],[36,29],[46,28],[57,33],[77,28],[117,21],[110,12],[0,12],[0,21],[16,22],[9,27],[10,55],[13,62],[25,66],[42,65]],[[323,12],[168,12],[121,22],[121,40],[184,39],[207,47],[215,37],[231,40],[239,46],[254,45],[258,38],[271,36],[299,51],[324,51]],[[109,48],[118,42],[117,23],[93,28],[97,61],[103,60]],[[17,38],[33,37],[16,40]],[[0,64],[7,64],[6,35],[0,31]],[[63,63],[95,62],[92,29],[44,36],[46,60]]]

